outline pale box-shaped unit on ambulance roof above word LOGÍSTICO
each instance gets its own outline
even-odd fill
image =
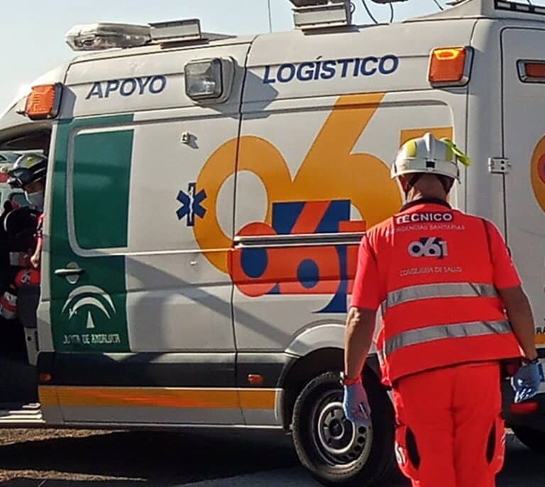
[[[290,0],[295,27],[302,31],[346,27],[352,23],[350,0]]]

